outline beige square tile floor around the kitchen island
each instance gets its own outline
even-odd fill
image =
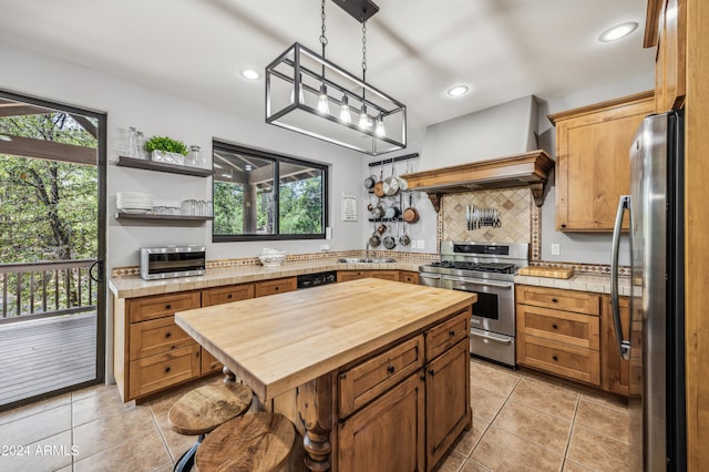
[[[470,374],[473,428],[439,472],[626,469],[621,403],[474,359]],[[96,386],[2,412],[0,471],[169,471],[195,438],[174,433],[167,410],[194,387],[135,406]]]

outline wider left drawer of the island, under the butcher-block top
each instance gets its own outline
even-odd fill
[[[339,374],[340,418],[379,397],[422,366],[423,336],[420,335],[343,371]]]

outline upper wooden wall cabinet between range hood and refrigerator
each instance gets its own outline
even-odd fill
[[[613,230],[618,199],[630,189],[633,137],[654,111],[650,91],[549,115],[556,125],[557,230]]]

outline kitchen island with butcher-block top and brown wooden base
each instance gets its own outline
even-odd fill
[[[294,422],[310,470],[430,470],[472,427],[474,294],[381,279],[181,311],[175,320]]]

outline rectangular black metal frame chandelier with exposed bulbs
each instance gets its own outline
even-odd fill
[[[366,82],[370,0],[332,0],[362,23],[362,78],[296,42],[266,66],[266,123],[378,155],[407,147],[407,106]],[[353,119],[353,116],[356,119]]]

